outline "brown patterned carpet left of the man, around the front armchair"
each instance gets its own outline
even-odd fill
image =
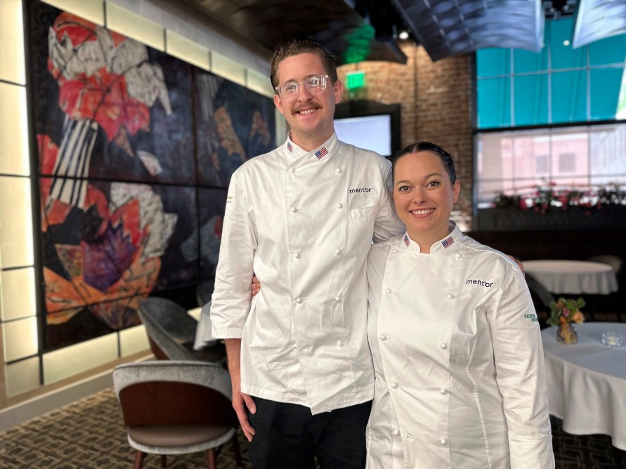
[[[247,445],[240,435],[246,465]],[[122,411],[114,390],[107,389],[0,432],[2,469],[122,469],[132,468],[134,449],[128,445]],[[159,469],[159,456],[148,454],[144,469]],[[168,469],[206,468],[204,452],[167,457]],[[219,469],[235,469],[229,444],[217,457]]]

